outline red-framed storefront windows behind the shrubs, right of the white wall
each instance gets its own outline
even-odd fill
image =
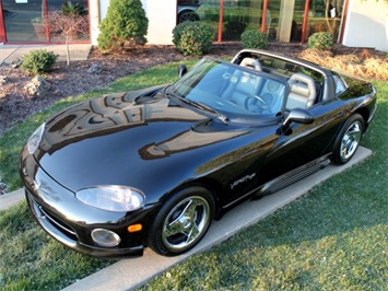
[[[221,33],[219,30],[222,30],[222,39],[219,40],[238,42],[246,30],[260,30],[270,42],[285,43],[304,42],[316,32],[330,32],[337,39],[344,3],[344,0],[310,0],[308,3],[306,0],[177,1],[177,23],[204,22],[215,32]]]

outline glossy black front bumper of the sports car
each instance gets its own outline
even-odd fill
[[[133,212],[111,212],[87,206],[75,194],[52,179],[24,149],[20,172],[25,185],[28,207],[39,225],[54,238],[79,253],[98,258],[139,257],[153,207]],[[131,224],[141,223],[143,230],[128,232]],[[121,242],[115,247],[97,245],[91,236],[94,229],[117,233]]]

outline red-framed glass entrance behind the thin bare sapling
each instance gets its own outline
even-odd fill
[[[63,43],[63,31],[69,25],[72,27],[68,34],[70,42],[89,42],[87,8],[87,0],[0,0],[0,43]],[[57,22],[55,14],[60,15]],[[81,26],[79,19],[82,19],[82,33],[73,27]],[[63,23],[69,24],[64,27]]]

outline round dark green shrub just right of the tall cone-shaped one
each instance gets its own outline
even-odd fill
[[[202,22],[183,22],[173,30],[173,43],[185,56],[209,53],[214,38],[214,28]]]

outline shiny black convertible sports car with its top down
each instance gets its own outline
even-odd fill
[[[95,257],[179,255],[238,202],[346,163],[376,110],[371,83],[264,50],[179,75],[82,102],[32,135],[20,173],[51,236]]]

